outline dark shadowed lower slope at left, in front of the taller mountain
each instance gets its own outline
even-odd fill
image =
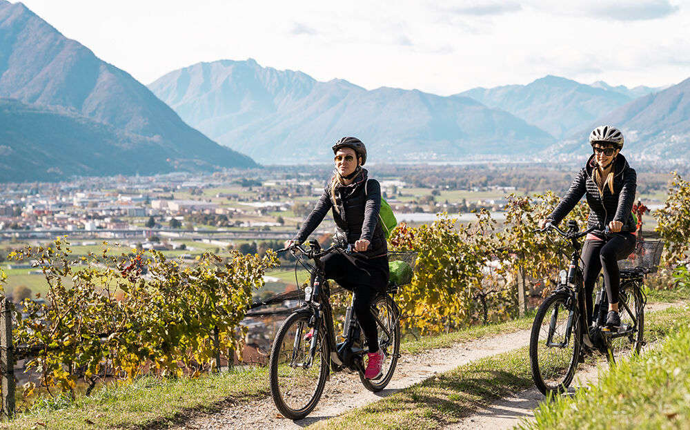
[[[186,170],[175,155],[155,139],[63,108],[0,99],[0,182]]]

